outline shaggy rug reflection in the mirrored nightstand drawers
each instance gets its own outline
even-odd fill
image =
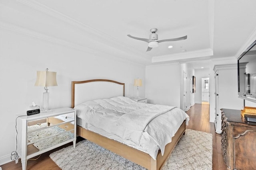
[[[28,126],[28,131],[32,131],[35,129],[39,129],[42,127],[46,127],[46,123],[42,123],[41,125],[32,125]],[[74,133],[66,132],[64,129],[53,126],[46,129],[41,129],[38,131],[34,131],[28,133],[28,141],[34,142],[33,145],[39,149],[44,150],[54,145],[57,145],[61,142],[68,141],[69,139],[74,138]],[[59,134],[59,135],[56,135]],[[52,135],[56,135],[55,137],[50,137]],[[50,137],[50,138],[47,138]],[[47,138],[47,139],[46,139]]]

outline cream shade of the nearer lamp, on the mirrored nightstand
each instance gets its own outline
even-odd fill
[[[58,86],[56,80],[56,72],[52,71],[37,71],[35,86]]]

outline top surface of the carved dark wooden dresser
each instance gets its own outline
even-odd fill
[[[223,115],[227,118],[226,121],[229,123],[242,123],[247,125],[256,125],[255,122],[245,121],[241,115],[241,110],[235,109],[221,109]]]

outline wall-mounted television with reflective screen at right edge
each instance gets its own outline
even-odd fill
[[[256,40],[238,57],[238,97],[256,103]]]

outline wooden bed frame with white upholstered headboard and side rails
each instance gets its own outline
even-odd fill
[[[77,104],[88,100],[124,96],[124,90],[124,83],[113,80],[95,79],[72,81],[71,107],[74,108]],[[101,147],[104,147],[105,149],[108,149],[149,170],[160,170],[162,168],[168,156],[182,137],[182,134],[185,134],[185,130],[186,124],[184,121],[182,125],[180,125],[180,128],[175,133],[174,137],[172,137],[172,142],[166,145],[164,155],[162,156],[161,151],[159,150],[157,158],[154,160],[145,152],[124,145],[118,141],[108,139],[102,135],[84,129],[83,127],[77,126],[76,128],[78,136],[96,143],[97,145],[100,145]]]

